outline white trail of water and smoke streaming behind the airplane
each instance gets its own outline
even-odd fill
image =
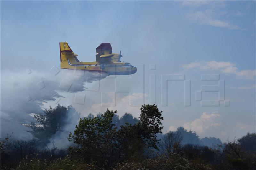
[[[60,71],[55,66],[52,70],[54,71],[47,73],[33,70],[20,73],[1,71],[1,138],[5,138],[7,134],[12,134],[15,139],[33,138],[27,132],[30,129],[24,124],[35,121],[31,113],[42,113],[44,102],[63,97],[58,92],[84,91],[84,83],[108,76],[100,72]],[[77,119],[69,117],[68,121],[77,123]],[[74,129],[73,125],[72,128]],[[72,131],[72,128],[67,125],[64,131]]]

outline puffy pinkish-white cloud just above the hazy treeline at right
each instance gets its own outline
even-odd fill
[[[204,112],[200,118],[195,119],[192,122],[187,122],[183,126],[187,130],[195,131],[198,134],[202,134],[207,131],[209,128],[215,128],[220,126],[218,122],[218,118],[220,117],[219,114],[216,112],[207,113]]]

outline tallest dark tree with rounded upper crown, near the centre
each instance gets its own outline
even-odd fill
[[[161,117],[162,111],[159,111],[155,104],[144,104],[140,110],[138,123],[121,125],[117,132],[118,143],[121,146],[121,157],[126,160],[132,157],[142,158],[146,148],[158,150],[157,144],[160,139],[157,139],[157,134],[162,133],[161,130],[163,129],[161,123],[161,120],[163,120],[163,117]],[[125,117],[128,116],[130,117],[128,114],[125,115]],[[136,121],[136,119],[134,120]]]

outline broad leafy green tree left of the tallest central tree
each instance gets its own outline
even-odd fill
[[[85,161],[97,161],[98,166],[109,167],[115,162],[118,144],[116,127],[112,118],[116,111],[108,110],[97,117],[84,117],[76,125],[74,133],[70,133],[68,140],[76,146],[70,147],[72,155],[79,155]]]

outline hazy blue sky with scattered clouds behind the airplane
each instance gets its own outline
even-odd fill
[[[29,68],[48,73],[53,65],[60,67],[61,41],[68,42],[79,60],[94,61],[95,48],[110,42],[114,53],[122,50],[122,60],[140,68],[124,77],[121,87],[130,93],[118,93],[111,109],[138,116],[139,107],[130,102],[150,103],[150,74],[155,74],[164,132],[185,126],[200,137],[225,141],[255,131],[255,20],[255,1],[1,1],[1,72],[25,73]],[[161,106],[163,74],[190,80],[190,107],[184,106],[184,81],[168,81],[168,106]],[[195,100],[201,85],[218,85],[201,81],[201,74],[225,80],[230,107],[224,101],[206,107]],[[74,102],[74,93],[62,93],[60,103],[72,104],[84,116],[103,112],[107,107],[102,102],[111,105],[120,78],[101,80],[97,92],[79,92],[86,96],[83,105]],[[106,101],[102,91],[109,92]],[[202,94],[205,100],[218,96]],[[56,103],[45,107],[49,104]]]

